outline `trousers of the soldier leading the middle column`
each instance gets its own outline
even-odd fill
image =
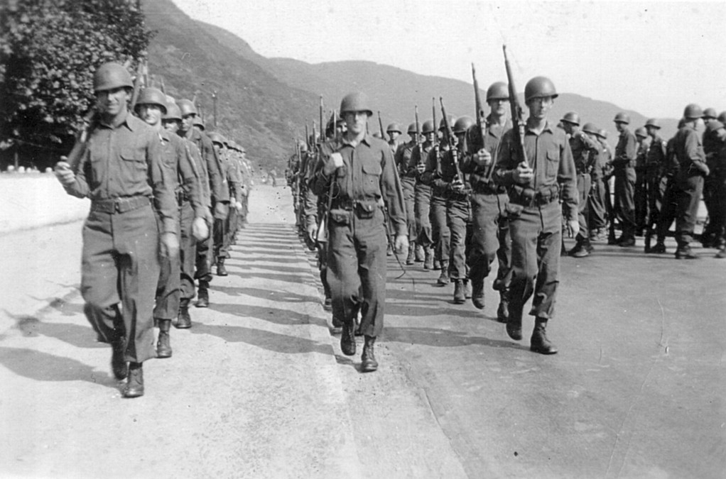
[[[371,218],[335,210],[330,214],[327,282],[333,317],[353,324],[361,313],[360,330],[376,337],[383,330],[386,303],[386,226],[383,210]]]

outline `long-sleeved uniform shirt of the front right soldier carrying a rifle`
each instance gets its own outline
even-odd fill
[[[568,220],[576,221],[578,193],[575,162],[565,132],[548,121],[538,135],[528,125],[524,132],[524,151],[534,176],[528,184],[518,185],[534,189],[535,192],[559,185],[560,200],[566,207],[563,210],[568,214]],[[499,144],[494,181],[505,187],[517,184],[514,181],[514,170],[519,162],[514,131],[510,129],[502,136],[502,143]]]

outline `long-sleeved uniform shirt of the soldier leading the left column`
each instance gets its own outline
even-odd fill
[[[176,232],[174,173],[163,165],[158,134],[127,112],[118,126],[99,120],[91,127],[76,181],[65,191],[91,201],[153,196],[163,232]]]

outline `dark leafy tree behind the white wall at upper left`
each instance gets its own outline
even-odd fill
[[[138,1],[0,2],[0,149],[68,147],[93,105],[94,70],[134,67],[152,34]]]

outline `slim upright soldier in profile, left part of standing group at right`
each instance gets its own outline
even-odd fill
[[[621,247],[635,246],[635,155],[637,141],[629,129],[630,117],[619,112],[615,115],[615,128],[620,136],[613,157],[615,176],[615,202],[613,218],[621,221],[621,235],[617,244]],[[611,220],[612,221],[612,220]]]

